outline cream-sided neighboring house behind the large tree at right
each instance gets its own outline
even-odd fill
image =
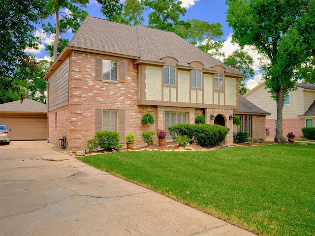
[[[254,89],[244,95],[246,99],[251,101],[261,109],[271,113],[271,116],[266,118],[266,128],[269,136],[275,137],[276,120],[277,120],[277,105],[270,97],[268,89],[264,89],[265,83],[261,83]],[[296,83],[296,90],[289,92],[284,97],[283,107],[283,134],[286,137],[287,133],[293,132],[296,137],[302,137],[301,128],[306,126],[314,126],[315,111],[315,85]]]

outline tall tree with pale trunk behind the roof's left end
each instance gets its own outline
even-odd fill
[[[87,17],[88,13],[82,10],[89,0],[48,0],[45,11],[47,17],[55,17],[55,24],[43,24],[45,32],[55,34],[53,56],[58,57],[59,38],[69,29],[75,32]]]

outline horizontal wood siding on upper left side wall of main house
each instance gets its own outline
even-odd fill
[[[68,105],[69,100],[69,59],[55,71],[48,80],[49,82],[49,107],[48,110],[54,110]]]

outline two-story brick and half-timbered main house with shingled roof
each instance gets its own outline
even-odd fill
[[[110,130],[121,143],[133,133],[142,146],[144,130],[205,115],[231,129],[225,143],[232,144],[241,77],[173,32],[88,16],[45,76],[49,140],[65,135],[68,148],[79,149],[95,131]],[[141,125],[146,113],[154,125]]]

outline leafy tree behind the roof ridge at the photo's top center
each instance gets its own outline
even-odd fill
[[[144,5],[149,7],[152,12],[149,13],[149,27],[174,31],[179,23],[181,15],[186,14],[185,7],[182,7],[182,1],[176,0],[144,0]]]

